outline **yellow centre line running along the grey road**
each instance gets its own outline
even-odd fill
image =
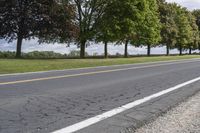
[[[193,61],[184,61],[184,62],[178,62],[178,63],[177,62],[175,62],[175,63],[172,62],[172,63],[165,63],[165,64],[155,64],[155,65],[148,65],[148,66],[120,68],[120,69],[104,70],[104,71],[96,71],[96,72],[87,72],[87,73],[79,73],[79,74],[71,74],[71,75],[52,76],[52,77],[45,77],[45,78],[35,78],[35,79],[27,79],[27,80],[9,81],[9,82],[0,82],[0,85],[28,83],[28,82],[36,82],[36,81],[44,81],[44,80],[52,80],[52,79],[61,79],[61,78],[70,78],[70,77],[77,77],[77,76],[87,76],[87,75],[94,75],[94,74],[102,74],[102,73],[111,73],[111,72],[118,72],[118,71],[127,71],[127,70],[134,70],[134,69],[143,69],[143,68],[150,68],[150,67],[166,66],[166,65],[172,65],[172,64],[183,64],[183,63],[189,63],[189,62],[193,62]]]

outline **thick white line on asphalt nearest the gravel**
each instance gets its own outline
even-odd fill
[[[54,131],[52,133],[73,133],[73,132],[79,131],[79,130],[81,130],[83,128],[89,127],[89,126],[91,126],[91,125],[93,125],[95,123],[98,123],[98,122],[102,121],[102,120],[110,118],[110,117],[112,117],[114,115],[117,115],[119,113],[122,113],[122,112],[124,112],[124,111],[126,111],[128,109],[134,108],[134,107],[136,107],[136,106],[138,106],[140,104],[143,104],[143,103],[148,102],[148,101],[150,101],[152,99],[158,98],[158,97],[160,97],[162,95],[165,95],[167,93],[170,93],[172,91],[178,90],[178,89],[180,89],[180,88],[182,88],[184,86],[187,86],[189,84],[195,83],[197,81],[200,81],[200,77],[192,79],[192,80],[187,81],[187,82],[184,82],[182,84],[176,85],[176,86],[174,86],[172,88],[160,91],[160,92],[155,93],[153,95],[144,97],[142,99],[136,100],[134,102],[128,103],[128,104],[123,105],[121,107],[112,109],[112,110],[110,110],[108,112],[105,112],[103,114],[100,114],[100,115],[97,115],[95,117],[89,118],[87,120],[81,121],[79,123],[76,123],[74,125],[68,126],[66,128]]]

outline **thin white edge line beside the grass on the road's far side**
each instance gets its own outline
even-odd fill
[[[11,73],[11,74],[0,74],[0,77],[3,77],[3,76],[17,76],[17,75],[28,75],[28,74],[42,74],[42,73],[51,73],[51,72],[63,72],[63,71],[74,71],[74,70],[98,69],[98,68],[106,68],[106,67],[120,67],[120,66],[130,66],[130,65],[151,65],[151,64],[155,64],[155,63],[195,61],[195,60],[199,60],[199,59],[200,58],[192,58],[192,59],[180,59],[180,60],[169,60],[169,61],[152,61],[152,62],[145,62],[145,63],[121,64],[121,65],[108,65],[108,66],[72,68],[72,69],[63,69],[63,70],[50,70],[50,71]]]

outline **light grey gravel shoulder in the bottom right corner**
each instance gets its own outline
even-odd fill
[[[200,133],[200,93],[135,133]]]

